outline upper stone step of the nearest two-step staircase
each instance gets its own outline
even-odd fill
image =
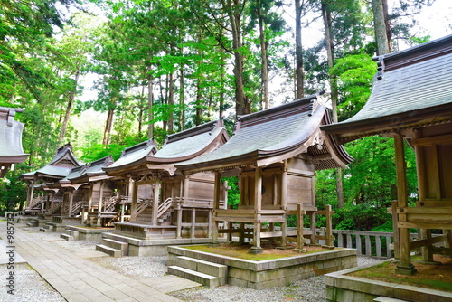
[[[185,269],[192,269],[203,274],[220,278],[220,285],[226,284],[228,278],[228,266],[205,260],[199,260],[186,256],[177,257],[171,265],[175,264]]]

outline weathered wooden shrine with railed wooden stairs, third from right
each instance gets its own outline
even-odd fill
[[[182,175],[174,165],[210,153],[227,139],[221,118],[169,135],[156,153],[131,152],[132,147],[130,156],[104,167],[108,176],[129,184],[130,222],[115,223],[115,232],[141,239],[209,236],[214,175]]]

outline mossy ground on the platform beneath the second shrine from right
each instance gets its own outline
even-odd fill
[[[233,258],[239,258],[243,260],[253,260],[253,261],[262,261],[262,260],[273,260],[287,257],[296,257],[301,255],[306,255],[309,253],[322,252],[331,249],[324,249],[319,246],[305,246],[305,253],[298,253],[293,249],[295,246],[287,245],[289,249],[287,250],[279,250],[277,249],[275,243],[264,243],[262,244],[263,252],[258,255],[250,254],[250,244],[238,244],[238,243],[224,243],[217,247],[210,247],[208,245],[193,245],[184,247],[184,249],[188,250],[199,250],[212,254],[218,254],[222,256],[228,256]]]

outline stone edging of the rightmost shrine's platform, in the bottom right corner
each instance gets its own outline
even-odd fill
[[[388,260],[386,260],[388,261]],[[381,261],[381,263],[384,261]],[[389,297],[402,301],[450,302],[452,293],[428,288],[416,288],[366,278],[347,276],[356,270],[370,268],[373,265],[354,269],[345,269],[325,275],[326,300],[334,302],[372,302],[376,298]]]

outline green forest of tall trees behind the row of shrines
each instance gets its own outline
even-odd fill
[[[441,1],[2,0],[0,106],[26,109],[16,119],[30,156],[1,180],[0,206],[23,206],[19,175],[68,142],[81,162],[118,159],[127,146],[149,137],[162,145],[221,116],[231,135],[237,116],[324,89],[334,120],[350,118],[371,93],[372,57],[427,42],[417,16]],[[452,29],[449,18],[435,22]],[[345,148],[352,164],[316,174],[317,206],[333,205],[335,229],[391,231],[392,139]],[[416,163],[406,149],[414,201]],[[229,182],[233,207],[237,180]]]

